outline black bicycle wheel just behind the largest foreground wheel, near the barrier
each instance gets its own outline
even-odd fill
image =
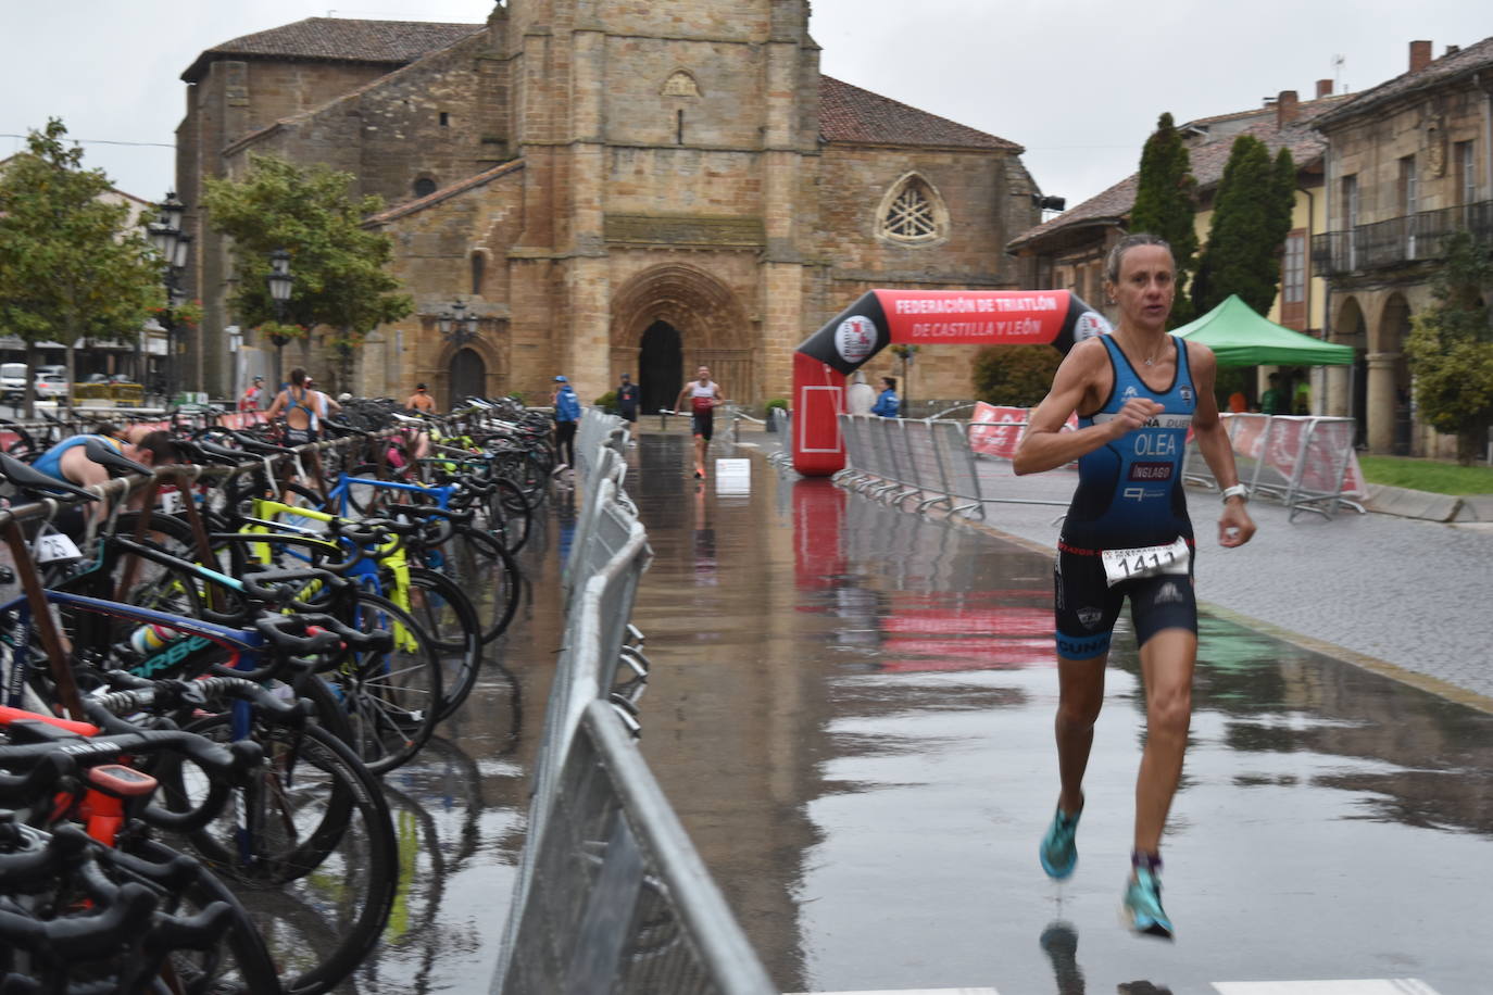
[[[358,591],[349,618],[364,633],[393,633],[388,650],[349,653],[325,679],[352,725],[348,746],[375,774],[405,764],[440,721],[440,659],[430,635],[393,601]]]

